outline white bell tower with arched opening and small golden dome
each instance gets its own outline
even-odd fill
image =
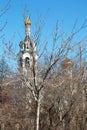
[[[19,52],[19,69],[27,74],[32,69],[32,66],[37,66],[36,46],[33,40],[30,39],[31,21],[29,18],[25,20],[25,39],[20,42]]]

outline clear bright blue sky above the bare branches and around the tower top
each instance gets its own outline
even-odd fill
[[[0,0],[0,10],[8,0]],[[26,9],[25,9],[26,8]],[[19,42],[25,37],[23,14],[29,11],[31,16],[31,32],[35,28],[38,16],[46,17],[43,36],[49,35],[55,27],[56,21],[63,21],[63,29],[69,34],[76,19],[77,28],[87,19],[87,0],[11,0],[9,10],[0,18],[0,25],[7,20],[7,26],[2,33],[6,41],[13,41],[15,50],[18,51]],[[87,29],[78,36],[83,38],[87,35]]]

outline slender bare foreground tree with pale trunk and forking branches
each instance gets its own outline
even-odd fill
[[[31,68],[32,76],[31,76],[31,78],[24,76],[24,77],[22,77],[22,81],[29,88],[29,90],[30,90],[30,92],[31,92],[31,94],[34,98],[34,101],[35,101],[35,125],[34,125],[35,130],[40,129],[39,128],[39,126],[40,126],[40,124],[39,124],[40,123],[40,111],[42,109],[41,104],[42,104],[42,100],[43,100],[43,96],[44,96],[44,89],[46,89],[46,83],[49,82],[48,79],[52,76],[53,72],[55,72],[56,65],[58,66],[61,63],[61,61],[64,59],[64,57],[66,56],[67,51],[68,51],[67,48],[69,46],[71,46],[71,42],[72,42],[74,36],[77,33],[79,33],[79,31],[86,28],[86,26],[87,26],[86,21],[77,30],[75,29],[75,25],[74,25],[74,27],[71,31],[71,34],[66,39],[61,38],[61,43],[60,43],[60,47],[59,47],[58,46],[58,39],[60,38],[60,36],[62,37],[62,35],[58,34],[58,24],[57,24],[56,29],[53,33],[53,48],[52,48],[52,51],[50,52],[50,55],[48,56],[49,60],[48,60],[47,66],[45,65],[45,67],[41,68],[42,70],[39,70],[39,67],[36,67],[34,52],[32,54],[33,55],[33,66]],[[45,48],[46,48],[46,46],[45,46]],[[34,48],[33,48],[33,50],[34,50]],[[44,52],[42,52],[41,56],[43,54],[44,54]],[[55,76],[52,77],[52,80],[55,81]],[[65,81],[63,81],[63,79],[62,79],[62,81],[60,83],[61,86],[63,86],[62,82],[65,83]],[[52,85],[54,87],[56,86],[56,84],[54,85],[53,83],[52,83]],[[66,89],[64,88],[64,90],[66,90]],[[63,91],[63,90],[61,90],[61,91]],[[68,89],[68,91],[69,91],[69,89]],[[67,94],[67,92],[66,92],[66,94]],[[62,94],[62,96],[63,96],[63,94]],[[72,94],[70,96],[72,97]],[[64,96],[62,98],[64,99]],[[61,98],[61,105],[64,105],[63,102],[62,102],[62,98]],[[66,100],[64,100],[64,101],[66,101]],[[63,118],[66,118],[66,116],[68,116],[66,114],[71,113],[71,108],[72,108],[74,101],[71,98],[70,101],[68,101],[68,102],[69,102],[68,106],[67,107],[64,106],[60,110],[60,111],[63,111],[61,113],[62,117],[60,117],[62,121],[63,121]],[[50,123],[51,123],[51,120],[50,120]]]

